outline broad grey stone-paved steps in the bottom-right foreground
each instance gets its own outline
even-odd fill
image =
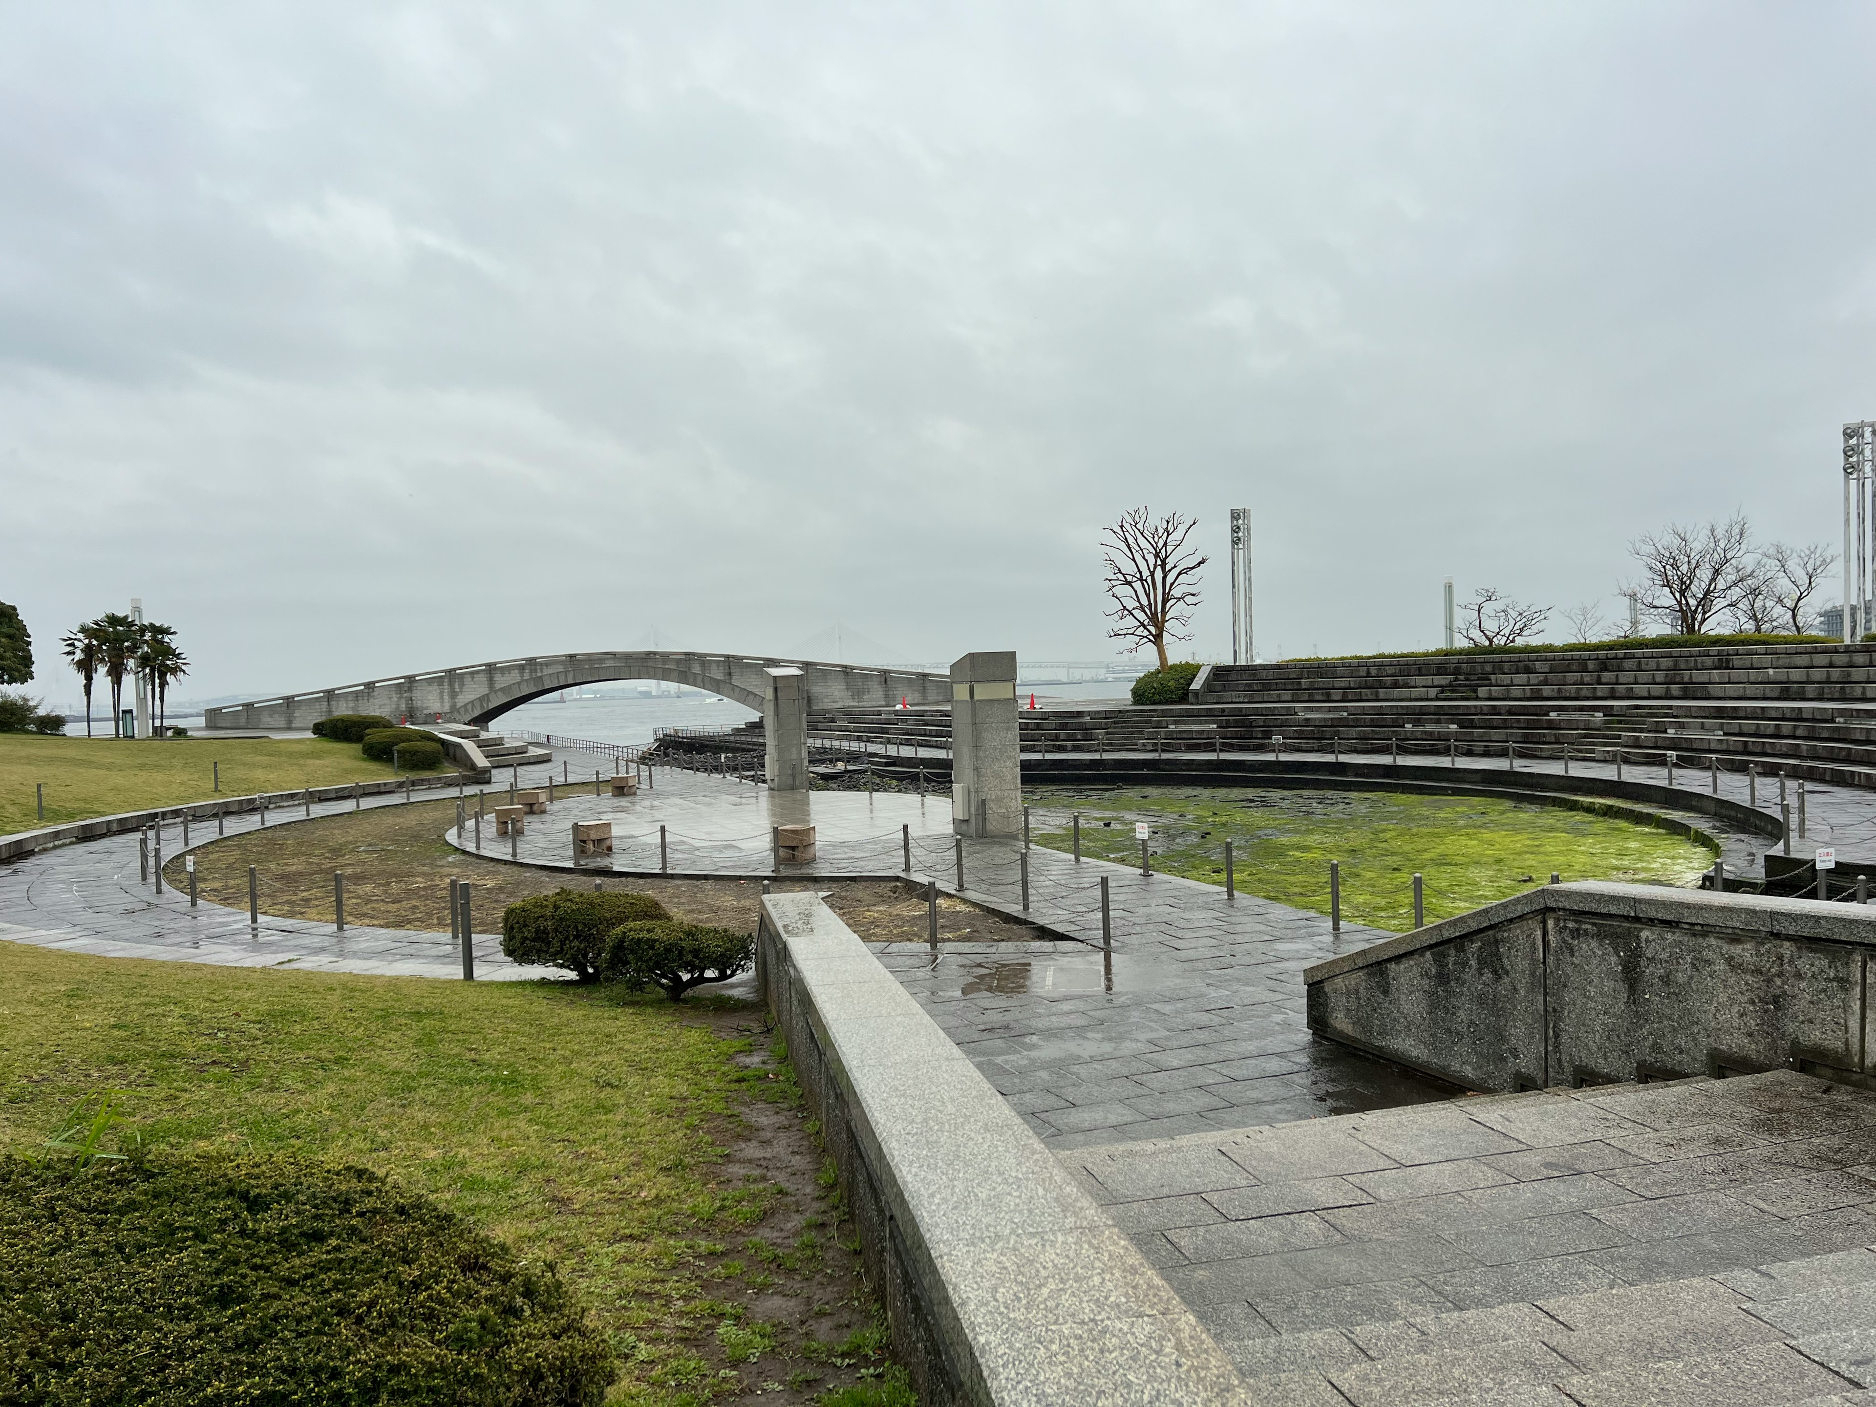
[[[1253,1401],[1872,1401],[1876,1096],[1773,1071],[1062,1159]]]

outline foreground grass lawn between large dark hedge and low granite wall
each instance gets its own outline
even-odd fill
[[[0,944],[0,1148],[124,1090],[158,1154],[358,1163],[555,1263],[623,1362],[610,1401],[908,1401],[758,1015]]]

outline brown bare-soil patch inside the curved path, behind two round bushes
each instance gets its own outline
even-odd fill
[[[471,906],[478,932],[493,932],[507,904],[552,893],[589,876],[537,870],[499,859],[465,855],[443,840],[454,822],[454,801],[381,807],[340,816],[291,822],[266,831],[231,835],[195,852],[195,882],[204,902],[248,906],[248,867],[253,865],[261,912],[285,919],[332,923],[332,874],[345,874],[345,921],[418,932],[450,930],[450,880],[475,885]],[[188,887],[182,857],[163,867],[163,878]],[[692,923],[752,932],[762,908],[760,880],[602,878],[606,889],[653,895],[672,914]],[[870,944],[927,942],[925,895],[893,880],[775,880],[775,889],[818,889],[848,927]],[[1026,942],[1039,934],[1024,923],[940,897],[938,942]]]

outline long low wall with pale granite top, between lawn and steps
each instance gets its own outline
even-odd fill
[[[1178,1296],[814,895],[756,972],[925,1407],[1248,1403]]]

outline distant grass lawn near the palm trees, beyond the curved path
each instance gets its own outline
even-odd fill
[[[39,737],[0,734],[0,835],[38,822],[34,786],[45,782],[45,824],[176,807],[216,795],[293,792],[302,786],[375,782],[394,777],[388,762],[366,762],[356,743],[328,737]],[[450,769],[454,771],[454,769]]]

